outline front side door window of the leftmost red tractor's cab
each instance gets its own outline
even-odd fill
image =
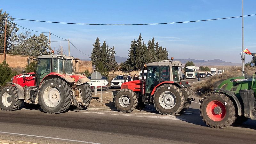
[[[36,85],[37,86],[39,86],[43,78],[50,73],[50,68],[51,68],[50,58],[39,59],[37,68],[36,68],[36,74],[37,74]]]

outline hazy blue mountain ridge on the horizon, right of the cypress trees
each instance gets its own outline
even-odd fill
[[[198,65],[198,66],[240,66],[241,63],[231,63],[231,62],[225,62],[223,60],[220,59],[214,59],[214,60],[196,60],[196,59],[175,59],[175,61],[180,61],[182,64],[186,64],[188,61],[192,61],[194,64]]]

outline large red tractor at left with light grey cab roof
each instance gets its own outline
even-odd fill
[[[25,106],[40,104],[47,113],[66,112],[71,105],[75,109],[88,107],[92,99],[90,80],[74,74],[73,59],[60,55],[38,56],[34,59],[38,60],[36,72],[12,77],[11,86],[1,90],[0,108],[18,110],[22,102]]]

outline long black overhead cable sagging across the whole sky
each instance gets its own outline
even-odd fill
[[[205,19],[205,20],[193,20],[193,21],[182,21],[182,22],[166,22],[166,23],[146,23],[146,24],[87,24],[87,23],[54,22],[54,21],[18,19],[18,18],[12,18],[12,19],[36,21],[36,22],[46,22],[46,23],[75,24],[75,25],[133,26],[133,25],[162,25],[162,24],[190,23],[190,22],[200,22],[200,21],[220,20],[220,19],[233,19],[233,18],[248,17],[248,16],[255,16],[255,15],[256,14],[245,15],[245,16],[237,16],[237,17],[219,18],[219,19]]]

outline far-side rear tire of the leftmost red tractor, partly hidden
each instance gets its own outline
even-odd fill
[[[90,102],[92,101],[91,87],[88,84],[83,84],[83,85],[80,85],[78,87],[81,91],[83,102],[86,103],[86,104],[90,104]]]

